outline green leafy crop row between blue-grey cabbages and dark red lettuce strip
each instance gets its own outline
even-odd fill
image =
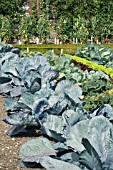
[[[62,78],[65,77],[82,88],[82,97],[86,102],[84,108],[87,111],[106,103],[112,105],[112,96],[103,94],[104,91],[113,89],[113,83],[108,75],[102,71],[90,70],[87,66],[72,61],[68,55],[59,57],[48,52],[46,56],[53,68],[59,70]]]

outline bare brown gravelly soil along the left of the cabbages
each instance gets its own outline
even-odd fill
[[[42,168],[20,168],[17,165],[19,161],[19,148],[28,141],[39,137],[39,134],[25,134],[17,137],[7,135],[9,125],[2,121],[7,115],[4,108],[4,97],[0,95],[0,170],[42,170]]]

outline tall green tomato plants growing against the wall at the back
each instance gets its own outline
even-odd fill
[[[104,41],[113,35],[112,0],[1,0],[0,16],[1,30],[3,17],[9,29],[13,28],[8,31],[11,39],[23,34],[23,23],[28,36],[37,34],[41,39],[48,36],[49,25],[64,42],[73,37],[83,43],[91,37]]]

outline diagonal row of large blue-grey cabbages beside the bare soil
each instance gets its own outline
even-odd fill
[[[41,164],[47,170],[112,170],[113,109],[106,104],[92,113],[81,100],[82,89],[57,79],[42,55],[20,57],[20,50],[0,44],[0,92],[6,96],[10,136],[29,128],[43,136],[24,143],[20,166]],[[54,142],[51,142],[54,140]]]

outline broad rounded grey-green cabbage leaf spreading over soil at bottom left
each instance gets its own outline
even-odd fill
[[[40,146],[43,146],[42,148]],[[33,149],[32,149],[33,148]],[[20,158],[24,162],[40,161],[43,156],[56,155],[55,150],[47,138],[32,139],[20,148]]]

